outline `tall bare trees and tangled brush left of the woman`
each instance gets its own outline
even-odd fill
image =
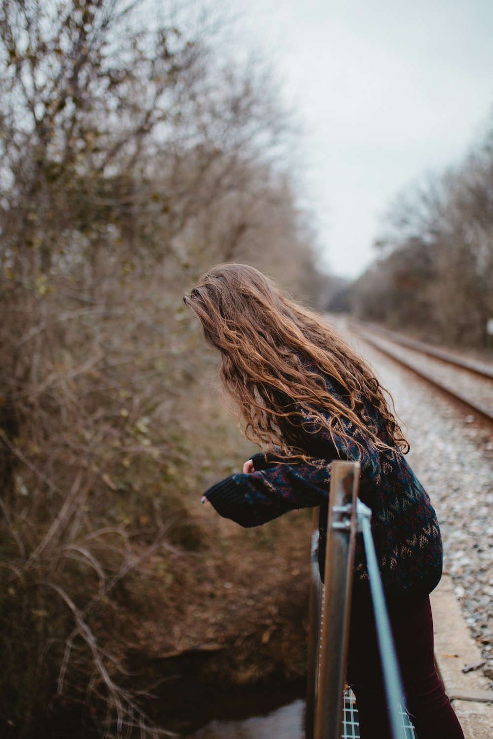
[[[316,282],[289,121],[221,29],[193,1],[1,4],[4,736],[71,706],[146,733],[125,644],[200,548],[188,501],[231,433],[181,297],[222,261]]]

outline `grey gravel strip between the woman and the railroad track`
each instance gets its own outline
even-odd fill
[[[337,321],[341,329],[341,321]],[[452,401],[360,339],[351,342],[390,390],[407,426],[409,462],[441,524],[444,570],[493,687],[493,434]]]

